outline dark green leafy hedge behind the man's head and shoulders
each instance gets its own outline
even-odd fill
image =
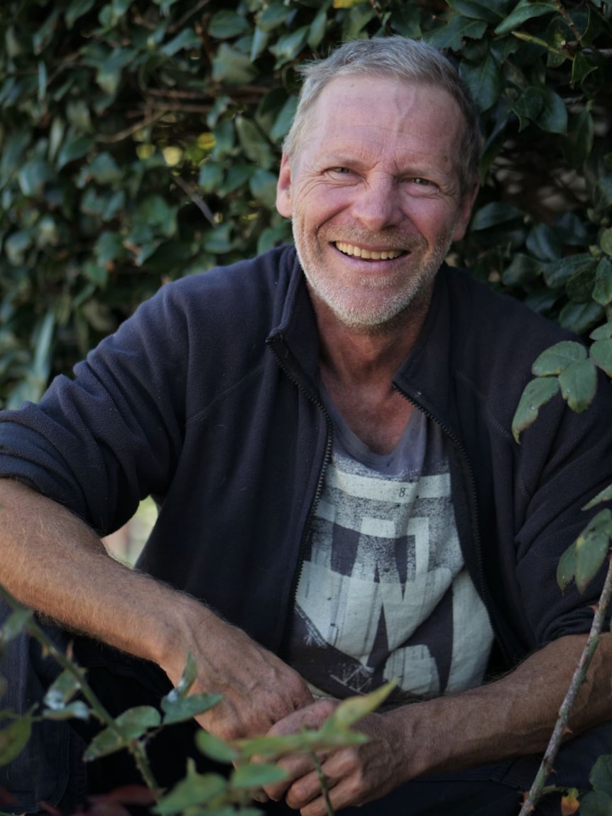
[[[612,317],[612,0],[3,0],[0,403],[164,282],[289,240],[297,66],[389,33],[444,49],[481,109],[455,262],[580,333]]]

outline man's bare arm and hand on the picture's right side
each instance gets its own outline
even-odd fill
[[[372,714],[361,722],[370,741],[321,757],[335,809],[364,805],[421,774],[467,768],[488,761],[543,752],[570,685],[586,635],[561,637],[532,654],[503,678],[452,697]],[[570,729],[574,734],[612,718],[612,636],[597,647],[580,691]],[[278,722],[270,734],[315,728],[335,705],[320,700]],[[289,778],[266,788],[286,796],[303,816],[325,816],[321,786],[308,757],[280,763]]]

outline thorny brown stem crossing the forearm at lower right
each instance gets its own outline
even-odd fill
[[[599,603],[597,604],[597,608],[595,610],[591,632],[589,632],[588,635],[588,641],[584,646],[583,653],[580,655],[578,666],[574,671],[574,676],[572,677],[572,681],[570,683],[570,688],[568,689],[567,694],[565,694],[563,703],[561,703],[559,716],[557,717],[557,725],[555,725],[555,730],[552,732],[552,737],[548,743],[546,753],[543,756],[538,773],[534,778],[534,783],[532,784],[530,792],[523,803],[519,816],[528,816],[528,814],[534,810],[540,796],[542,796],[544,783],[546,783],[546,780],[552,771],[552,765],[557,758],[559,747],[561,747],[561,740],[565,734],[565,731],[567,730],[567,723],[570,719],[572,707],[574,707],[574,702],[578,696],[580,687],[583,685],[592,656],[595,654],[597,643],[599,642],[599,637],[601,634],[601,628],[604,623],[605,612],[610,604],[610,596],[612,596],[612,559],[609,559],[608,561],[608,573],[605,576],[604,587],[601,590]]]

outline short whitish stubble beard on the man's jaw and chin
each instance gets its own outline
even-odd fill
[[[400,290],[389,286],[389,278],[380,274],[361,277],[358,283],[364,294],[361,302],[357,302],[354,290],[347,295],[347,289],[342,282],[334,280],[327,274],[322,258],[317,257],[316,249],[313,251],[308,245],[308,239],[304,233],[300,233],[295,218],[292,228],[299,264],[312,294],[322,300],[344,326],[365,334],[379,334],[389,326],[395,326],[402,319],[410,320],[413,310],[415,317],[423,313],[431,296],[433,280],[448,255],[451,243],[450,234],[445,233],[438,238],[431,255],[423,259],[411,258],[415,268],[412,269],[410,276],[406,277],[405,286]],[[357,236],[354,236],[353,240],[351,236],[345,236],[344,240],[357,245],[367,243],[363,237],[360,240]],[[406,247],[406,239],[401,244],[389,242],[389,246],[408,248],[410,255],[419,253],[425,255],[427,249],[422,237],[412,239],[410,247]],[[381,298],[380,293],[387,286],[390,290]],[[372,297],[368,297],[369,292],[372,293]]]

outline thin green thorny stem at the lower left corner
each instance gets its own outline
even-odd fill
[[[0,585],[0,598],[2,598],[3,601],[6,601],[7,605],[9,605],[11,610],[14,612],[23,609],[20,602],[17,601],[17,599],[13,597],[7,589],[2,587],[2,585]],[[89,704],[91,712],[93,712],[98,720],[100,720],[100,722],[106,725],[107,728],[113,730],[121,739],[123,739],[123,734],[118,729],[113,717],[110,716],[109,712],[107,712],[102,703],[100,703],[100,700],[97,698],[95,692],[85,680],[85,672],[82,670],[82,668],[78,667],[76,663],[73,663],[73,661],[70,660],[63,651],[55,646],[53,641],[51,641],[51,638],[42,631],[42,628],[38,626],[36,621],[29,619],[29,621],[25,624],[25,628],[28,634],[35,638],[42,645],[42,647],[47,650],[47,652],[51,654],[51,656],[55,658],[58,663],[60,663],[60,666],[64,669],[64,671],[69,672],[69,674],[71,674],[78,682],[83,697]],[[162,790],[157,785],[155,777],[153,776],[153,771],[151,770],[151,765],[149,764],[149,759],[144,752],[142,743],[138,741],[127,743],[126,750],[129,751],[134,757],[135,764],[140,770],[144,783],[146,783],[151,792],[153,792],[154,796],[159,796]]]

